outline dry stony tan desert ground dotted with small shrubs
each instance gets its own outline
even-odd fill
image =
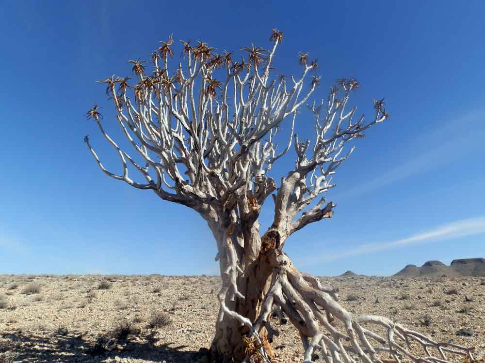
[[[484,279],[351,274],[321,280],[339,287],[352,312],[388,316],[484,356]],[[99,288],[106,281],[109,288]],[[0,275],[0,363],[207,362],[199,349],[210,347],[219,286],[210,276]],[[302,362],[291,324],[274,325],[281,333],[274,341],[278,360]],[[473,329],[473,336],[455,335],[461,328]]]

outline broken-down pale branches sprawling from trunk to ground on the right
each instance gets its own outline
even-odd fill
[[[474,348],[436,342],[388,318],[348,312],[339,305],[336,290],[299,272],[284,253],[271,253],[273,280],[253,328],[258,331],[264,326],[268,336],[275,334],[268,318],[276,304],[300,333],[304,363],[312,362],[317,350],[326,363],[383,363],[379,353],[392,356],[396,363],[446,363],[453,355],[473,359]],[[376,327],[377,333],[368,325]],[[422,356],[411,352],[413,344],[423,349]]]

